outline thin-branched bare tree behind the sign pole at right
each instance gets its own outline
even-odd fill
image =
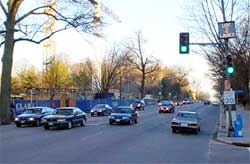
[[[224,11],[223,15],[223,6]],[[229,40],[230,54],[235,64],[235,75],[232,77],[232,87],[242,89],[247,95],[249,93],[249,31],[250,31],[250,6],[248,0],[195,0],[189,5],[189,23],[192,22],[192,33],[199,36],[196,39],[203,39],[216,43],[211,47],[201,47],[210,65],[210,77],[216,82],[217,91],[223,90],[225,78],[225,44],[218,35],[218,22],[223,22],[223,16],[227,21],[236,22],[237,38]],[[190,27],[189,26],[189,27]],[[241,79],[241,80],[239,80]]]

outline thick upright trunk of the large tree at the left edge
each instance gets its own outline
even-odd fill
[[[2,79],[0,94],[0,124],[10,123],[11,72],[14,51],[14,23],[6,21],[4,53],[2,57]]]

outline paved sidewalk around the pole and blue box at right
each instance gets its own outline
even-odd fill
[[[250,111],[244,110],[242,106],[237,106],[237,114],[241,114],[243,119],[243,137],[227,137],[226,118],[221,107],[217,140],[227,144],[250,147]]]

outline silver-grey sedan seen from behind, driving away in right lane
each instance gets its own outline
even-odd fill
[[[197,112],[179,111],[171,121],[172,132],[177,130],[193,131],[196,134],[200,131],[200,118]]]

